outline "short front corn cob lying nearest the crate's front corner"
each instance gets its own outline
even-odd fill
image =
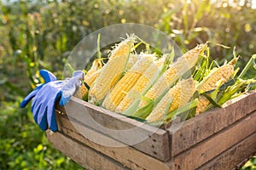
[[[148,122],[160,121],[165,114],[168,114],[169,112],[188,103],[194,93],[195,82],[192,77],[177,82],[177,84],[173,88],[170,88],[166,95],[160,100],[146,120]],[[171,99],[172,103],[170,105]]]

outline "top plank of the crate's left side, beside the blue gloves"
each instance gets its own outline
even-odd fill
[[[72,98],[68,102],[65,111],[68,117],[86,127],[93,128],[121,143],[132,145],[161,161],[170,160],[169,133],[166,130],[107,111],[77,98]]]

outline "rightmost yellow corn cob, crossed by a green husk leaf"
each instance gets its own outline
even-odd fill
[[[236,62],[237,58],[232,59],[227,65],[223,65],[218,69],[212,70],[212,72],[210,72],[198,85],[198,90],[200,93],[217,88],[218,82],[221,82],[220,85],[227,82],[234,73],[234,66],[236,65]],[[200,96],[195,114],[198,115],[202,111],[205,111],[209,104],[210,101],[208,99],[206,99],[204,96]]]

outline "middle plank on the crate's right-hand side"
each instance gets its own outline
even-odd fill
[[[256,132],[256,111],[173,158],[174,169],[195,169]],[[186,162],[186,163],[184,163]]]

